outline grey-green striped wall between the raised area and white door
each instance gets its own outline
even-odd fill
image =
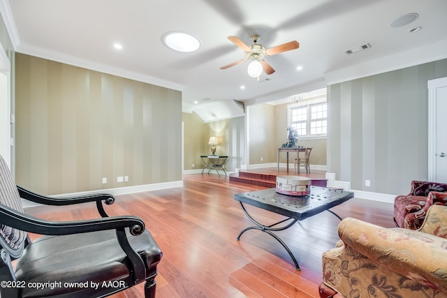
[[[395,195],[426,180],[427,81],[446,75],[443,59],[328,86],[328,172]]]

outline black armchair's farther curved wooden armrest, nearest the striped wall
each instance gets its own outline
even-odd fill
[[[79,197],[47,197],[45,195],[38,195],[28,191],[22,186],[17,185],[17,190],[19,191],[20,198],[29,200],[31,202],[36,202],[38,204],[53,205],[53,206],[65,206],[71,204],[80,204],[85,202],[96,202],[96,207],[98,208],[99,214],[103,217],[108,217],[105,213],[102,202],[105,204],[113,204],[115,202],[115,197],[106,193],[98,193],[92,195],[82,195]]]

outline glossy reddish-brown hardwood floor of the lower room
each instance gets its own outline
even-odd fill
[[[323,212],[277,233],[298,259],[302,271],[297,271],[285,249],[268,234],[249,230],[236,240],[251,221],[234,195],[257,189],[263,188],[215,174],[186,174],[183,187],[119,195],[106,211],[110,216],[140,216],[161,247],[156,297],[318,297],[321,254],[339,240],[339,220]],[[247,209],[263,222],[281,218]],[[394,227],[392,204],[353,198],[332,210],[342,217]],[[98,217],[94,204],[25,211],[55,221]],[[142,287],[112,297],[144,297]]]

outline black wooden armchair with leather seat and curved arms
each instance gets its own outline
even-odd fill
[[[101,218],[44,221],[24,214],[20,197],[50,205],[96,202]],[[161,250],[140,218],[109,217],[103,203],[113,202],[105,194],[31,193],[15,185],[0,156],[1,297],[106,297],[143,281],[145,297],[155,297]],[[26,232],[43,236],[31,243]]]

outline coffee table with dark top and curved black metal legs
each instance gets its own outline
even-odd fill
[[[350,191],[335,190],[330,188],[323,188],[318,186],[311,186],[310,195],[295,197],[291,195],[282,195],[277,193],[275,188],[263,189],[261,191],[249,191],[247,193],[237,193],[235,195],[235,200],[240,202],[240,206],[244,211],[244,214],[250,219],[255,225],[248,228],[244,228],[239,235],[237,240],[244,232],[248,230],[261,230],[267,234],[270,234],[274,239],[277,239],[279,243],[286,248],[286,251],[291,256],[295,267],[300,270],[298,261],[295,256],[288,248],[288,246],[282,241],[277,234],[272,231],[282,231],[290,228],[297,221],[302,221],[306,218],[314,216],[322,211],[329,211],[334,214],[341,221],[342,218],[331,211],[330,208],[335,207],[343,202],[354,197],[354,193]],[[245,209],[244,204],[249,204],[254,207],[265,209],[276,214],[281,214],[286,216],[286,218],[272,225],[263,225],[258,223]]]

